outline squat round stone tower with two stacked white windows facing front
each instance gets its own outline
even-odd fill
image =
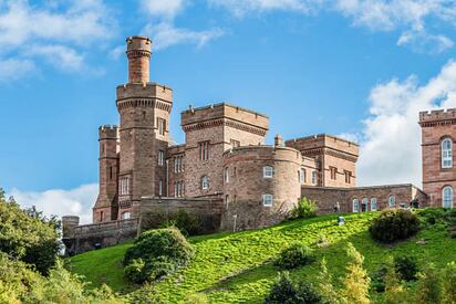
[[[226,151],[221,228],[243,230],[282,221],[301,196],[301,163],[298,150],[280,145]]]

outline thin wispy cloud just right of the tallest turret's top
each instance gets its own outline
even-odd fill
[[[144,32],[153,38],[155,50],[162,50],[183,43],[196,44],[198,48],[201,48],[209,41],[225,34],[220,29],[193,31],[175,28],[168,22],[162,22],[157,25],[148,24],[144,29]]]

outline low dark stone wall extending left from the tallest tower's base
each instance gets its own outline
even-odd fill
[[[66,254],[74,255],[132,240],[137,237],[138,228],[138,219],[77,226],[63,235],[63,243]]]

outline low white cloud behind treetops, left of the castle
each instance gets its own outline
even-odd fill
[[[13,189],[8,196],[13,196],[22,208],[35,206],[45,216],[79,216],[81,223],[91,223],[97,193],[99,186],[91,184],[71,190],[52,189],[43,192]]]

